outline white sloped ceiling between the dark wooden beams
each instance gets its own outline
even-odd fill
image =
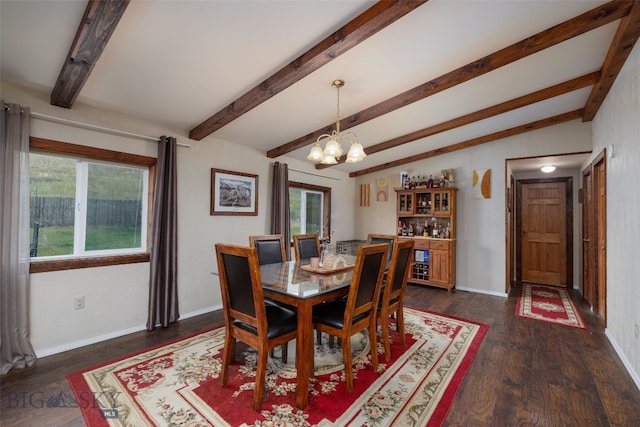
[[[132,0],[76,102],[185,134],[375,2]],[[430,0],[201,142],[276,148],[604,1]],[[1,77],[51,93],[87,2],[1,0]],[[596,71],[619,21],[350,130],[365,148]],[[585,105],[591,87],[369,155],[355,172]],[[10,100],[8,100],[10,101]],[[135,129],[125,129],[135,132]],[[189,142],[189,141],[185,141]],[[309,146],[290,153],[304,159]],[[557,153],[562,153],[558,147]],[[577,163],[580,164],[580,163]]]

